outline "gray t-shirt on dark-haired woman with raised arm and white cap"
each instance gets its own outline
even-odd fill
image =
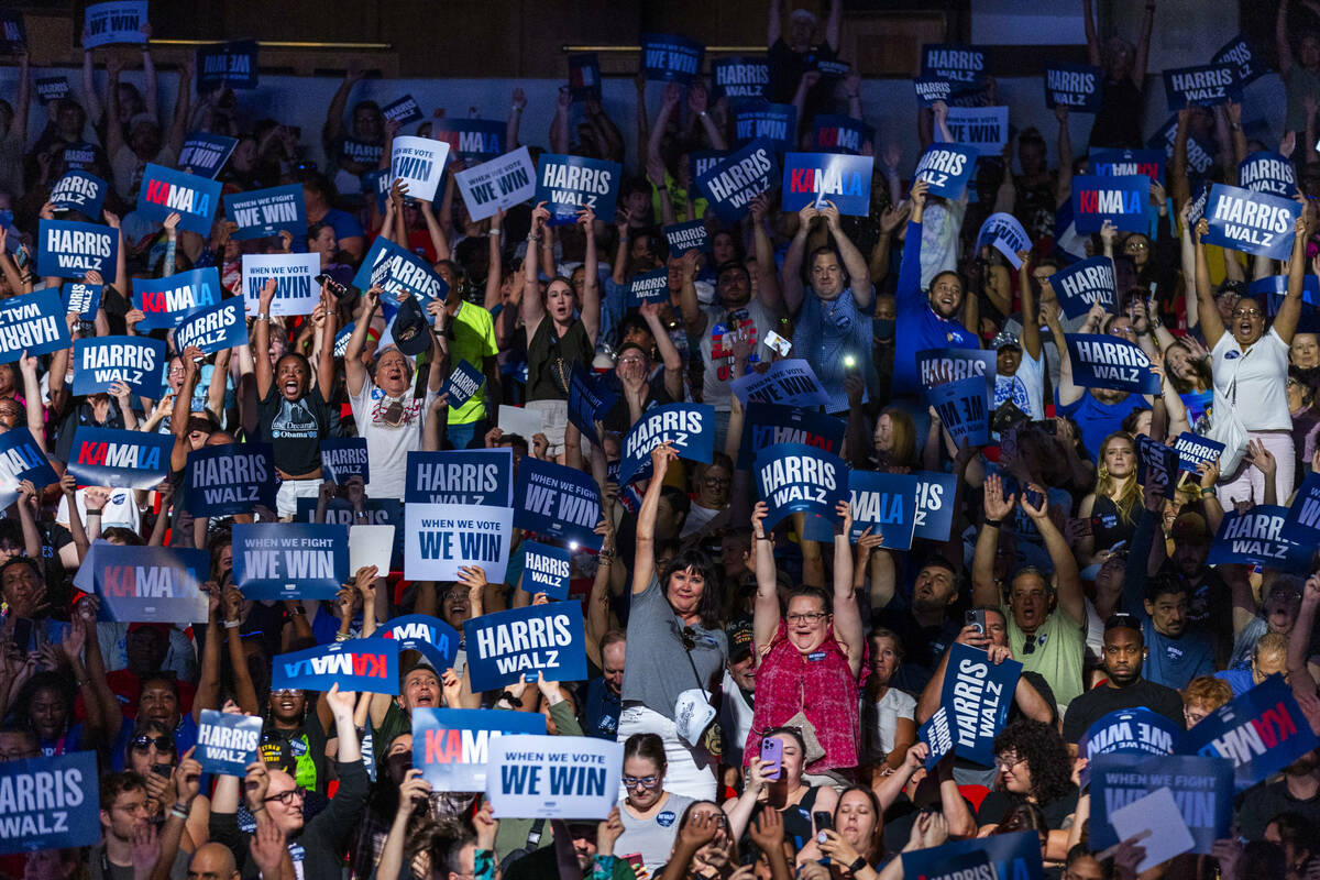
[[[717,588],[706,584],[708,590]],[[682,646],[682,631],[690,629],[692,661],[688,662]],[[682,627],[660,581],[651,578],[645,590],[632,596],[628,610],[628,662],[623,666],[623,702],[642,703],[673,720],[673,705],[678,694],[692,687],[709,689],[711,678],[723,669],[729,658],[729,640],[723,629]],[[697,676],[701,681],[697,681]]]

